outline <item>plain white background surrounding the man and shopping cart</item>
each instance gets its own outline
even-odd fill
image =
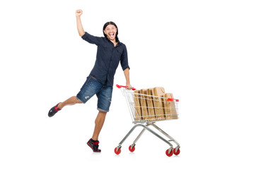
[[[165,87],[180,99],[179,120],[156,123],[181,145],[145,132],[134,153],[114,153],[133,126],[119,89],[100,134],[102,153],[86,145],[97,98],[47,113],[79,91],[96,46],[78,36],[103,36],[107,21],[127,45],[131,83]],[[0,168],[255,168],[254,1],[1,1]],[[115,84],[125,84],[117,68]]]

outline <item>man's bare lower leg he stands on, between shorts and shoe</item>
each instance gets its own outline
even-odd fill
[[[99,111],[97,118],[95,119],[95,128],[93,132],[93,137],[91,137],[93,140],[98,140],[100,130],[103,127],[106,115],[107,115],[107,112]]]

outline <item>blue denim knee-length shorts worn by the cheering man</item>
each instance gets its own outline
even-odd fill
[[[112,87],[101,84],[91,74],[87,77],[86,82],[76,95],[76,98],[83,104],[91,99],[94,94],[98,97],[98,111],[108,112],[112,99]]]

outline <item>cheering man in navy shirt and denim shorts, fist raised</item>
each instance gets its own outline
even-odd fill
[[[95,119],[95,128],[93,137],[87,142],[88,146],[93,149],[94,152],[100,152],[98,149],[98,136],[100,130],[103,127],[105,116],[109,111],[115,70],[119,63],[122,65],[124,70],[124,76],[126,78],[126,85],[128,89],[131,89],[129,82],[129,65],[127,58],[127,48],[122,44],[117,35],[117,25],[112,22],[105,23],[103,26],[104,37],[94,37],[88,32],[83,30],[81,23],[82,10],[76,10],[76,24],[78,34],[82,39],[86,40],[91,44],[98,46],[97,56],[93,70],[87,77],[86,82],[81,87],[80,92],[76,96],[71,96],[64,102],[60,102],[56,106],[52,107],[48,113],[49,117],[52,117],[55,113],[62,110],[64,106],[74,104],[85,104],[86,101],[96,94],[98,97],[98,116]]]

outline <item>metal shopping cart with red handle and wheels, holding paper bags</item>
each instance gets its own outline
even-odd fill
[[[143,129],[136,137],[134,142],[129,146],[129,151],[133,152],[135,150],[136,142],[139,140],[144,131],[148,130],[170,146],[170,148],[165,151],[167,156],[173,156],[173,154],[177,156],[180,154],[180,144],[178,144],[173,137],[170,137],[170,135],[155,125],[156,121],[178,119],[179,100],[173,99],[173,96],[160,97],[153,96],[152,94],[144,94],[144,92],[138,92],[134,88],[132,88],[132,90],[128,90],[127,87],[118,84],[117,87],[122,91],[122,94],[127,101],[134,127],[129,130],[120,144],[118,144],[118,146],[115,148],[115,154],[118,155],[121,153],[122,143],[127,139],[127,137],[129,137],[129,134],[131,134],[134,129],[139,126],[143,127]],[[151,130],[149,126],[156,128],[156,130],[168,137],[169,140],[161,137],[159,134]],[[176,144],[174,149],[173,144],[170,142],[174,142]]]

